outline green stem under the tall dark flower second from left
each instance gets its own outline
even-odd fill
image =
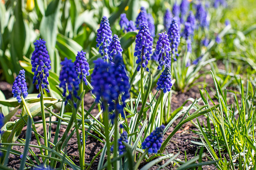
[[[44,145],[48,147],[48,140],[47,140],[47,128],[46,128],[46,120],[45,120],[45,113],[44,113],[44,96],[43,96],[43,88],[42,83],[39,85],[39,93],[40,96],[40,104],[41,104],[41,113],[42,113],[42,121],[43,121],[43,130],[44,130]],[[44,150],[45,156],[48,156],[48,150]],[[49,159],[46,161],[47,165],[49,165]]]

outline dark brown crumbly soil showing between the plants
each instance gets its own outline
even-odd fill
[[[200,80],[200,81],[202,81],[202,80]],[[210,87],[213,87],[213,81],[212,81],[212,78],[210,76],[206,77],[206,82],[209,83]],[[4,86],[6,86],[5,82],[0,82],[0,89],[1,90],[3,88],[3,86],[1,86],[1,85],[3,85],[3,84],[4,84]],[[200,88],[202,88],[202,86],[200,86]],[[207,90],[209,90],[210,96],[213,97],[213,95],[215,93],[211,92],[209,87],[207,87]],[[2,90],[2,91],[6,95],[6,98],[12,97],[12,96],[9,95],[10,94],[10,89],[7,89],[7,91],[4,91],[4,90]],[[200,98],[199,88],[195,86],[186,93],[176,92],[176,94],[173,94],[173,96],[172,96],[172,111],[175,110],[176,108],[180,107],[182,105],[182,103],[185,100],[187,100],[188,98],[194,98],[194,99],[195,98]],[[90,95],[90,93],[85,94],[84,108],[88,110],[90,108],[90,106],[92,105],[93,101],[94,100],[93,100],[92,96]],[[215,101],[217,103],[217,100],[215,100]],[[192,102],[188,102],[187,105],[189,105],[191,103]],[[98,109],[97,109],[96,106],[93,108],[91,113],[93,115],[98,113]],[[199,121],[202,122],[202,120],[205,120],[204,116],[199,117]],[[177,123],[178,123],[177,121],[174,122],[174,127],[175,127],[175,125],[177,125]],[[174,127],[171,126],[168,129],[167,133],[164,135],[164,138],[166,138],[172,132]],[[52,132],[53,133],[52,133],[51,141],[53,141],[53,139],[54,139],[55,129],[56,129],[56,125],[53,124],[52,125]],[[172,137],[169,145],[166,147],[165,152],[173,153],[173,154],[176,154],[176,153],[180,152],[180,155],[178,156],[178,159],[181,159],[183,161],[185,160],[185,151],[186,151],[186,154],[187,154],[186,155],[187,160],[194,158],[195,155],[198,155],[199,150],[198,150],[198,152],[196,152],[196,151],[197,151],[199,146],[196,145],[196,144],[191,143],[191,140],[192,141],[197,141],[197,142],[201,142],[201,140],[198,139],[199,137],[195,133],[193,133],[191,130],[196,130],[196,128],[194,127],[194,125],[191,122],[188,122],[188,123],[184,124],[182,126],[182,128]],[[61,130],[60,130],[59,138],[62,136],[64,131],[65,131],[65,126],[62,125]],[[43,135],[43,130],[40,130],[39,133],[41,135]],[[94,134],[94,135],[96,135],[96,134]],[[20,135],[20,138],[25,138],[25,131],[22,131],[22,133]],[[43,140],[41,140],[41,141],[42,141],[42,143],[44,143]],[[30,144],[37,144],[34,134],[32,134],[32,139],[31,139]],[[100,151],[101,148],[103,148],[102,143],[100,143],[97,139],[95,139],[91,136],[88,136],[88,139],[86,141],[86,149],[85,149],[85,162],[90,163],[91,160],[93,159],[93,157]],[[13,149],[17,150],[17,151],[20,151],[20,152],[23,151],[23,147],[20,147],[20,146],[13,146]],[[36,154],[40,154],[40,151],[39,151],[38,148],[33,148],[33,151]],[[70,141],[68,142],[66,152],[67,152],[67,155],[70,156],[70,158],[74,161],[74,163],[76,165],[79,165],[79,152],[77,150],[76,135],[74,135],[70,139]],[[204,152],[207,152],[207,151],[205,150]],[[30,155],[30,153],[28,155]],[[30,156],[30,158],[32,159],[32,156]],[[92,167],[91,167],[92,170],[97,169],[99,159],[100,159],[100,157],[98,157],[93,162]],[[203,160],[208,161],[207,158],[203,159]],[[164,161],[162,163],[164,163]],[[145,165],[145,164],[146,164],[146,162],[142,161],[140,168],[142,167],[142,165]],[[10,167],[10,168],[13,168],[13,169],[19,169],[20,168],[20,158],[16,155],[10,154],[9,162],[8,162],[7,166]],[[175,169],[176,167],[177,166],[173,167],[172,165],[168,165],[166,168],[167,169]],[[151,167],[150,169],[155,170],[157,168],[158,168],[158,166],[156,165],[156,166]],[[213,166],[213,165],[204,166],[203,169],[204,170],[206,170],[206,169],[207,170],[215,169],[215,166]]]

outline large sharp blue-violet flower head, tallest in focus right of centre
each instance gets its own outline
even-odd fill
[[[140,67],[146,68],[149,71],[147,65],[150,60],[150,54],[152,54],[153,49],[153,37],[148,30],[148,24],[142,22],[140,24],[140,30],[136,35],[136,45],[134,56],[138,57],[136,64],[138,64],[137,71],[140,71]]]

